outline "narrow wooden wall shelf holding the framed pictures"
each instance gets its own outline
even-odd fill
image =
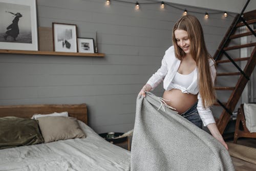
[[[23,51],[0,49],[0,53],[28,54],[28,55],[58,55],[58,56],[97,56],[104,57],[104,53],[74,53],[74,52],[53,52],[53,51]]]

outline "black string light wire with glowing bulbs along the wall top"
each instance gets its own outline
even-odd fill
[[[176,9],[179,9],[181,11],[184,11],[183,12],[183,15],[187,15],[188,12],[190,13],[198,13],[198,14],[204,14],[204,17],[207,19],[209,18],[209,15],[210,14],[223,14],[225,17],[228,16],[227,12],[223,12],[223,11],[218,11],[218,12],[198,12],[198,11],[193,11],[193,10],[189,10],[187,11],[186,9],[182,9],[182,8],[179,8],[179,7],[176,7],[175,5],[172,5],[172,4],[169,4],[169,3],[166,3],[166,2],[148,2],[148,3],[139,3],[138,1],[136,1],[136,3],[133,3],[133,2],[128,2],[128,1],[123,1],[123,0],[106,0],[105,2],[105,5],[107,6],[110,6],[111,4],[111,1],[114,1],[114,2],[119,2],[119,3],[126,3],[126,4],[134,4],[135,5],[135,8],[136,10],[139,10],[140,9],[140,5],[146,5],[146,4],[160,4],[160,7],[163,9],[165,8],[165,6],[170,6],[170,7],[173,7],[173,8],[176,8]],[[229,14],[230,15],[230,14]],[[230,15],[232,16],[232,15]],[[234,16],[232,16],[234,17]]]

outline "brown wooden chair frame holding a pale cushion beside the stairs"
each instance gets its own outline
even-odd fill
[[[255,114],[256,115],[256,114]],[[242,124],[242,126],[241,126]],[[241,130],[242,128],[242,130]],[[241,104],[238,109],[237,122],[234,130],[234,141],[233,143],[237,143],[238,138],[246,137],[246,138],[256,138],[256,133],[250,133],[245,124],[245,115],[244,115],[244,104]]]

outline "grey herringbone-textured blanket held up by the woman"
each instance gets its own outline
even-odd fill
[[[137,98],[131,170],[234,170],[226,148],[161,105],[152,93]],[[158,110],[159,109],[159,110]]]

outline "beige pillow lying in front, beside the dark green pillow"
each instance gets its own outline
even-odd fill
[[[38,118],[38,124],[45,143],[71,138],[85,138],[75,118],[46,116]]]

